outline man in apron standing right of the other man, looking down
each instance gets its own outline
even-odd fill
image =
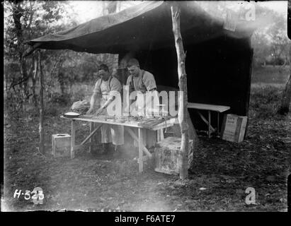
[[[142,107],[142,113],[144,116],[147,115],[147,107],[146,102],[147,98],[146,93],[147,92],[155,92],[156,91],[156,81],[154,79],[154,76],[152,73],[149,73],[149,71],[144,71],[139,68],[139,61],[137,59],[130,59],[127,62],[127,69],[130,73],[130,76],[127,78],[126,85],[129,85],[130,93],[132,91],[140,91],[144,97],[143,98],[143,106],[139,105],[137,97],[137,101],[135,101],[136,109],[139,107]],[[154,98],[157,98],[156,103],[159,104],[159,97],[157,95],[154,95]],[[129,102],[129,106],[132,106],[132,100]],[[154,102],[153,102],[154,103]],[[153,106],[154,107],[154,106]],[[139,109],[137,109],[139,111]],[[132,110],[130,110],[132,112]],[[150,131],[148,129],[143,130],[143,143],[148,148],[152,147],[154,143],[156,143],[156,131]],[[137,133],[137,129],[135,129],[135,132]],[[137,142],[134,142],[134,145],[137,146]]]

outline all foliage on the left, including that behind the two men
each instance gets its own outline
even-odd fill
[[[39,71],[35,71],[38,55],[34,52],[23,57],[28,49],[25,42],[72,28],[77,21],[68,1],[4,2],[4,91],[10,103],[8,107],[27,108],[31,102],[38,105]],[[72,85],[76,82],[95,81],[98,65],[105,63],[113,69],[117,62],[116,56],[110,54],[70,50],[42,50],[41,54],[46,101],[55,100],[52,95],[57,92],[62,97],[72,93]]]

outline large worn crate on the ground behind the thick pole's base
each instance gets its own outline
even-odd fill
[[[178,157],[181,148],[181,138],[167,137],[156,143],[154,148],[156,172],[179,174]],[[193,159],[193,140],[189,140],[188,168]]]

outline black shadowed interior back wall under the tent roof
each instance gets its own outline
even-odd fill
[[[227,113],[248,115],[252,49],[247,39],[220,37],[184,46],[188,102],[227,105]],[[137,52],[141,68],[152,72],[158,85],[178,88],[175,47]],[[195,128],[204,128],[200,117],[189,109]],[[207,113],[207,112],[205,112]],[[205,114],[206,117],[206,114]],[[213,117],[217,117],[213,114]],[[204,127],[202,127],[204,126]]]

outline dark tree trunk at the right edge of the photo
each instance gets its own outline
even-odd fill
[[[291,44],[289,46],[289,59],[291,59]],[[291,100],[291,64],[289,64],[289,69],[289,79],[283,91],[281,106],[278,109],[279,114],[287,114],[289,112]]]

